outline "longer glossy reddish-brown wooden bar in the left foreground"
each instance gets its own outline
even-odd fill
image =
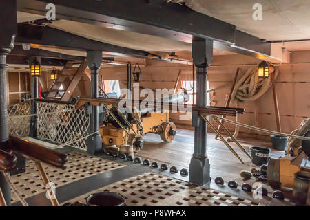
[[[68,155],[45,148],[40,144],[32,143],[19,137],[10,135],[6,149],[12,149],[21,153],[24,157],[34,159],[56,168],[65,169],[65,163],[68,161]]]

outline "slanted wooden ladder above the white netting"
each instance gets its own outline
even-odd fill
[[[58,75],[57,79],[54,81],[54,84],[50,88],[50,91],[48,91],[47,98],[54,99],[56,98],[55,97],[56,94],[59,93],[61,98],[57,98],[57,99],[60,99],[61,101],[64,101],[64,102],[68,102],[70,100],[74,89],[80,82],[85,72],[85,69],[87,68],[86,61],[82,61],[80,66],[77,68],[72,67],[73,64],[74,63],[72,62],[67,62],[65,64],[65,67],[63,67],[63,70]],[[65,82],[65,78],[72,76],[72,74],[70,74],[70,70],[72,69],[76,69],[76,72],[74,73],[72,79],[70,80],[70,83]],[[59,89],[61,85],[63,85],[63,89]]]

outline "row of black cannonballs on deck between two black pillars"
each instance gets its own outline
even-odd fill
[[[141,157],[132,157],[132,155],[125,155],[125,154],[120,154],[118,155],[118,153],[110,153],[109,151],[105,151],[103,150],[103,153],[105,153],[106,155],[112,155],[113,157],[118,157],[120,159],[127,159],[128,161],[132,161],[135,164],[143,164],[144,166],[151,166],[152,168],[160,168],[161,170],[165,171],[165,170],[169,170],[169,166],[167,164],[161,164],[161,166],[159,166],[158,162],[154,161],[151,163],[151,161],[149,159],[145,159],[142,162]],[[178,168],[176,166],[172,166],[170,168],[170,173],[178,173]],[[186,177],[188,175],[188,170],[183,168],[180,170],[180,175],[183,177]]]

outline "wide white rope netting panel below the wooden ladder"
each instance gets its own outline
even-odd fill
[[[74,105],[70,104],[37,102],[37,114],[39,139],[59,144],[78,140],[68,145],[86,150],[86,138],[81,138],[88,135],[90,116],[87,115],[85,108],[74,109]]]

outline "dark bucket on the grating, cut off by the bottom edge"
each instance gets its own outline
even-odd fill
[[[126,199],[117,192],[99,192],[87,197],[90,206],[125,206]]]

